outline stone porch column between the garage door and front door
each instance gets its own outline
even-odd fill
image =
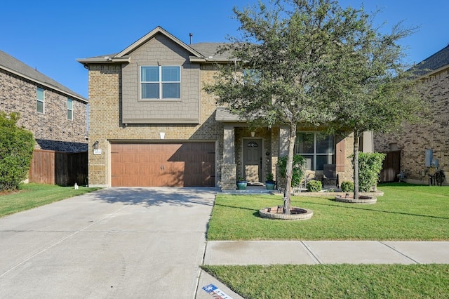
[[[234,126],[225,125],[223,131],[222,190],[236,190],[236,174]]]

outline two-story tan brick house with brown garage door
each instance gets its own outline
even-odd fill
[[[187,45],[156,27],[120,53],[78,60],[89,70],[90,185],[234,190],[240,176],[260,183],[276,173],[287,130],[251,132],[203,91],[217,63],[231,62],[219,45]],[[302,128],[297,152],[310,171],[336,164],[352,180],[352,140]]]

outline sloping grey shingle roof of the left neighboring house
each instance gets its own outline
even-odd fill
[[[63,86],[50,77],[47,77],[36,69],[29,67],[29,65],[26,65],[20,60],[13,58],[13,56],[5,53],[4,51],[0,51],[0,69],[4,69],[7,72],[12,72],[20,77],[34,81],[36,84],[41,84],[43,86],[46,86],[47,88],[59,91],[60,93],[65,93],[69,95],[70,98],[74,98],[74,100],[88,102],[88,100],[86,98],[83,98],[82,95],[75,93],[71,89]]]

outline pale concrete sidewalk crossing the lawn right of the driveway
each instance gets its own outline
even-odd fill
[[[208,241],[205,265],[449,264],[449,241]]]

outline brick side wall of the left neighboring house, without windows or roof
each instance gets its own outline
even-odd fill
[[[36,84],[0,70],[0,110],[20,113],[18,126],[32,131],[39,150],[85,152],[87,106],[73,100],[73,120],[67,119],[67,95],[44,86],[44,113],[36,111]]]

